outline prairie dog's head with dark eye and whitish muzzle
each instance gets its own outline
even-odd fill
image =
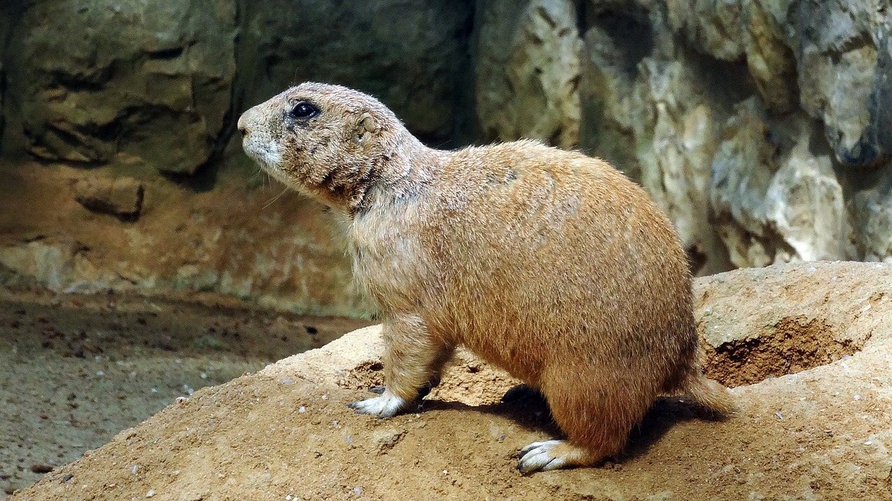
[[[361,209],[369,187],[409,163],[401,144],[407,136],[414,140],[375,98],[317,83],[245,111],[238,130],[244,152],[270,176],[351,213]]]

